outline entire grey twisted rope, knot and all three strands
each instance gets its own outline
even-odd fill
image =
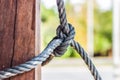
[[[64,7],[63,0],[57,0],[57,6],[59,11],[60,25],[57,28],[57,36],[52,39],[52,41],[48,44],[48,46],[41,52],[38,56],[34,57],[30,61],[25,62],[24,64],[20,64],[18,66],[14,66],[12,68],[5,69],[0,71],[0,80],[16,76],[18,74],[22,74],[34,69],[39,64],[45,64],[46,60],[50,61],[50,56],[54,55],[56,57],[62,56],[69,45],[76,49],[76,51],[83,58],[85,63],[88,65],[92,75],[95,80],[102,80],[100,75],[98,74],[97,69],[94,64],[88,57],[87,53],[84,49],[74,41],[75,31],[71,24],[67,23],[66,12]],[[52,57],[53,58],[53,57]]]

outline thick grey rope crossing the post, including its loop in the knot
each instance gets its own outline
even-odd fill
[[[59,52],[61,50],[61,52],[64,53],[68,45],[70,45],[71,40],[74,38],[75,32],[74,28],[69,25],[70,31],[68,31],[68,36],[65,36],[64,34],[61,34],[62,31],[60,31],[59,28],[60,26],[57,29],[58,35],[53,38],[53,40],[48,44],[48,46],[44,49],[42,53],[24,64],[20,64],[18,66],[14,66],[12,68],[0,71],[0,80],[16,76],[18,74],[22,74],[34,69],[37,65],[42,64],[44,61],[46,61],[52,53],[61,54]],[[59,37],[60,35],[62,35],[63,37]]]

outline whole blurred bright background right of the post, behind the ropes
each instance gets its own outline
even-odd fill
[[[103,80],[120,80],[120,0],[64,0],[75,40],[88,52]],[[56,35],[56,0],[41,0],[41,50]],[[42,80],[94,80],[78,53],[68,47],[42,68]]]

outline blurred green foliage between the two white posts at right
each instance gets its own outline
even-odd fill
[[[107,55],[112,48],[112,11],[101,12],[95,8],[95,54]]]

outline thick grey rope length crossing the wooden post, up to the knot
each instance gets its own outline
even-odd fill
[[[16,76],[18,74],[22,74],[34,69],[37,65],[41,64],[45,61],[51,53],[53,53],[54,49],[58,47],[62,43],[61,39],[53,39],[48,46],[44,49],[44,51],[31,59],[30,61],[20,64],[19,66],[15,66],[12,68],[8,68],[6,70],[0,71],[0,80]]]

